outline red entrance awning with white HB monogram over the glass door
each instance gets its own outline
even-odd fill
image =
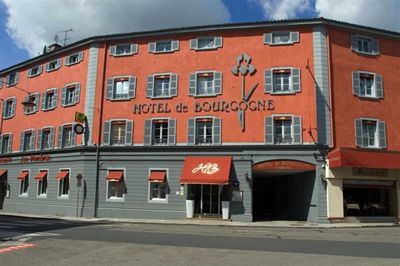
[[[186,157],[180,183],[228,184],[232,157]]]

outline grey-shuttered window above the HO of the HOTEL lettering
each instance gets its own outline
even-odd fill
[[[136,77],[118,76],[107,79],[108,100],[129,100],[135,97]]]

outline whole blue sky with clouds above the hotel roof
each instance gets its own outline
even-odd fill
[[[105,34],[324,17],[400,32],[400,0],[0,0],[0,70]]]

